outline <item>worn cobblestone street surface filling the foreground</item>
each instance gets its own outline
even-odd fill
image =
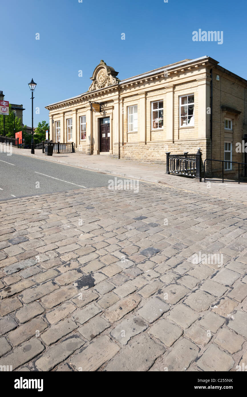
[[[243,202],[143,183],[138,193],[77,189],[0,202],[0,210],[0,365],[169,372],[247,364]]]

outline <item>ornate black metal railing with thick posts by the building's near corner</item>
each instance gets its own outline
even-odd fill
[[[167,174],[194,177],[201,182],[204,173],[201,148],[198,148],[196,154],[188,154],[188,152],[184,152],[184,154],[170,154],[170,152],[167,152],[166,155]]]

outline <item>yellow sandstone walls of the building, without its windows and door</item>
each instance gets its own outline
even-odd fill
[[[211,145],[211,75],[213,67],[213,145]],[[216,81],[216,74],[220,81]],[[224,141],[232,142],[232,160],[244,161],[243,153],[236,153],[236,143],[244,133],[246,98],[245,81],[226,73],[215,64],[198,62],[180,66],[168,75],[155,72],[136,80],[122,81],[119,85],[82,94],[80,98],[58,104],[50,110],[50,125],[60,120],[61,142],[67,142],[67,118],[73,118],[73,142],[76,151],[84,154],[100,154],[100,118],[110,118],[110,155],[143,162],[166,162],[166,152],[196,153],[201,148],[205,158],[224,159]],[[195,125],[180,127],[179,98],[194,95]],[[71,98],[73,99],[73,98]],[[104,102],[101,113],[91,112],[88,100]],[[163,100],[163,129],[152,129],[151,102]],[[56,104],[55,104],[56,105]],[[128,131],[128,106],[138,106],[138,131]],[[222,106],[231,107],[241,114],[224,112]],[[80,116],[86,115],[86,140],[80,140]],[[232,131],[224,129],[224,118],[233,119]],[[52,123],[54,120],[54,123]],[[247,133],[247,131],[245,131]],[[53,136],[53,139],[55,137]],[[233,167],[234,168],[234,167]],[[208,172],[216,172],[221,166],[208,164]],[[233,169],[232,173],[236,170]],[[231,172],[230,172],[231,173]]]

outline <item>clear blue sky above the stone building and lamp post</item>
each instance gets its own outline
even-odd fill
[[[246,0],[2,0],[0,90],[31,125],[33,78],[36,126],[44,106],[88,90],[101,59],[125,79],[208,55],[247,79],[246,11]],[[194,42],[199,29],[223,31],[223,44]]]

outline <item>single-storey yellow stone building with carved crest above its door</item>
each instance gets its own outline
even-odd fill
[[[52,139],[89,155],[165,163],[165,152],[243,162],[247,81],[209,56],[119,80],[101,60],[88,92],[46,106]],[[212,172],[220,163],[213,163]],[[233,173],[234,164],[226,164]]]

